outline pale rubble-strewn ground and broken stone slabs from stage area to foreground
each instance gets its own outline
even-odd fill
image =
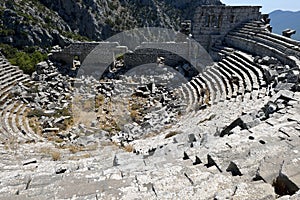
[[[299,199],[299,69],[248,58],[261,86],[219,101],[211,90],[197,109],[180,92],[188,84],[170,90],[165,75],[99,82],[40,63],[13,89],[40,111],[40,140],[1,144],[0,197]]]

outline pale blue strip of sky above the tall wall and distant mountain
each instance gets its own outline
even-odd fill
[[[258,5],[263,6],[262,13],[274,10],[300,11],[300,0],[221,0],[226,5]]]

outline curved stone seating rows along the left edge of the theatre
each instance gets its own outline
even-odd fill
[[[29,76],[0,54],[0,80],[0,143],[36,141],[38,136],[25,117],[27,105],[10,93],[16,84],[29,82]]]

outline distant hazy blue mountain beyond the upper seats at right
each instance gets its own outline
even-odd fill
[[[300,11],[276,10],[270,13],[270,18],[274,33],[281,34],[284,29],[294,29],[297,33],[292,38],[300,41]]]

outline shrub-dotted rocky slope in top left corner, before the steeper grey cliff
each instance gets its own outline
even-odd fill
[[[16,47],[48,47],[65,45],[69,41],[63,36],[71,31],[69,25],[38,1],[9,1],[0,3],[0,6],[1,43]]]

